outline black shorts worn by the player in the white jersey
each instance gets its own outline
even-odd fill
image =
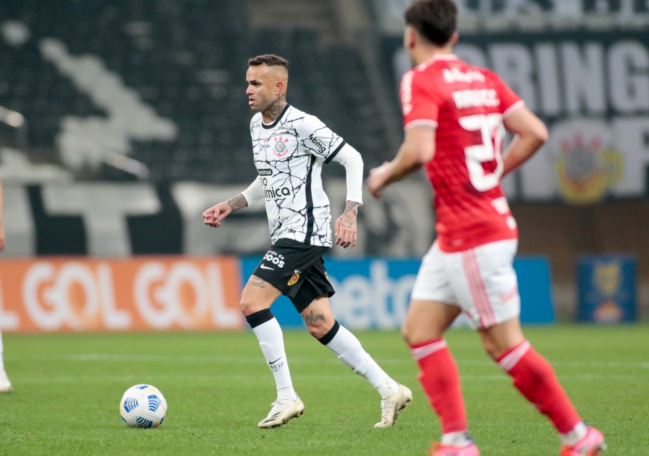
[[[252,274],[288,296],[301,313],[317,297],[336,293],[322,259],[327,250],[294,239],[278,239]]]

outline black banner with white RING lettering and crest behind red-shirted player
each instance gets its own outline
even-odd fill
[[[410,61],[401,38],[384,42],[396,90]],[[511,201],[649,195],[649,28],[461,34],[455,53],[498,72],[550,130],[503,179]]]

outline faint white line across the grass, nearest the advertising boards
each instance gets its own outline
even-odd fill
[[[223,356],[223,355],[139,355],[139,354],[121,354],[121,355],[107,355],[106,353],[79,353],[68,355],[21,355],[19,359],[12,359],[11,355],[6,356],[6,359],[11,361],[42,361],[42,360],[58,360],[58,361],[72,361],[72,362],[122,362],[122,361],[177,361],[186,363],[217,363],[217,364],[258,364],[263,362],[261,354],[257,356]],[[313,359],[310,357],[291,357],[288,356],[292,364],[338,364],[340,361],[335,357],[330,359]],[[411,365],[410,357],[403,357],[402,359],[380,359],[376,358],[381,365],[390,366],[406,366]],[[494,363],[490,359],[457,359],[457,364],[466,366],[492,366]],[[649,361],[551,361],[553,366],[557,367],[586,367],[586,368],[643,368],[649,369]]]

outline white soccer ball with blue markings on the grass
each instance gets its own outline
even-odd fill
[[[155,386],[131,386],[121,397],[119,415],[129,428],[157,428],[167,415],[167,401]]]

